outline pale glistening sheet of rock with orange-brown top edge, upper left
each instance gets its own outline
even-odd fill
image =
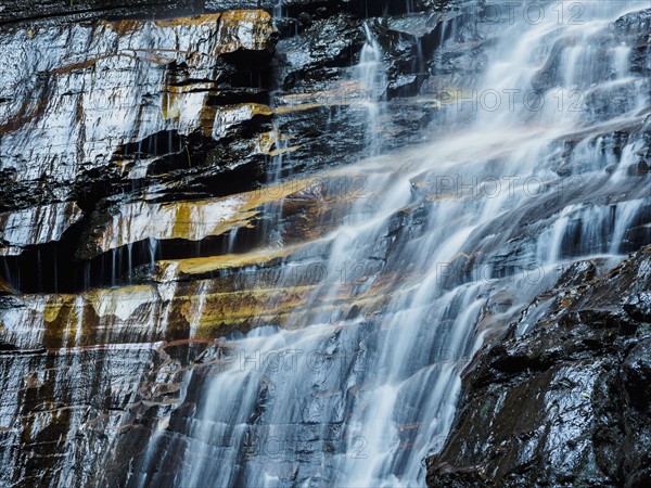
[[[2,170],[14,171],[14,187],[47,182],[64,200],[84,172],[119,175],[119,162],[107,163],[125,144],[162,131],[221,136],[228,125],[206,99],[232,76],[224,56],[270,55],[272,33],[259,11],[4,33]]]

